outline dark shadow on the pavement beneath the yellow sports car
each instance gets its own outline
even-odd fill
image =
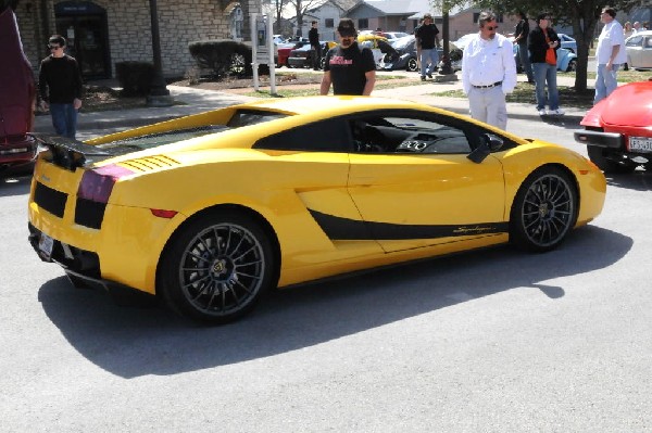
[[[253,314],[222,327],[161,307],[120,307],[63,277],[43,284],[38,298],[70,344],[100,368],[123,378],[167,375],[301,349],[507,290],[536,288],[561,298],[564,288],[547,280],[610,266],[631,245],[630,238],[588,226],[548,254],[499,246],[276,291]]]

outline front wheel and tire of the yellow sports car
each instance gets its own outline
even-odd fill
[[[561,244],[577,220],[577,187],[566,171],[541,167],[525,179],[512,206],[510,241],[537,253]]]

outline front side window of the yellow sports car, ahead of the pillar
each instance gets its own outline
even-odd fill
[[[360,153],[467,154],[473,148],[461,122],[419,112],[387,113],[350,119],[354,148]],[[472,138],[473,139],[473,138]]]

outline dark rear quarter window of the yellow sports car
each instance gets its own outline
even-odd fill
[[[341,118],[314,122],[258,140],[253,149],[349,152],[351,140]]]

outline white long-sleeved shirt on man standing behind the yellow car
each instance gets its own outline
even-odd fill
[[[516,62],[513,43],[497,34],[493,39],[482,39],[478,34],[464,48],[462,56],[462,88],[465,94],[473,86],[490,86],[502,81],[504,94],[516,87]]]

